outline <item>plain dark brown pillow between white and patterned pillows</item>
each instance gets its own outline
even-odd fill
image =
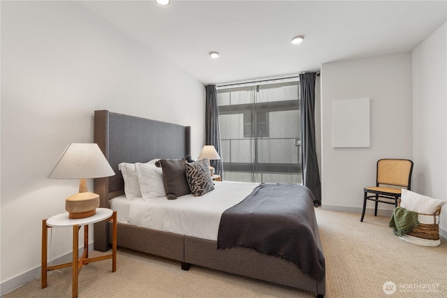
[[[189,191],[185,175],[185,161],[182,159],[161,159],[163,171],[163,184],[165,185],[166,198],[175,200],[180,195],[187,195]]]

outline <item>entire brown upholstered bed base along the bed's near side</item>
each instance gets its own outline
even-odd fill
[[[109,233],[111,243],[111,227]],[[316,281],[292,262],[249,248],[218,250],[216,241],[126,224],[118,224],[117,245],[177,260],[183,270],[197,265],[325,295],[324,280]]]

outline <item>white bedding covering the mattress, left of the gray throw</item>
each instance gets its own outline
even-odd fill
[[[130,203],[128,223],[216,241],[223,211],[244,200],[256,186],[257,183],[216,181],[214,191],[201,197],[126,199]],[[124,212],[124,207],[119,207]]]

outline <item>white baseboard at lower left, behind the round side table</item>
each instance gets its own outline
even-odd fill
[[[93,249],[94,249],[94,243],[91,242],[89,244],[89,251],[93,251]],[[80,248],[79,255],[82,255],[83,251],[84,251],[84,248]],[[73,258],[72,255],[73,255],[73,253],[67,253],[66,255],[62,255],[60,258],[57,258],[55,260],[52,260],[51,262],[48,262],[48,265],[56,265],[56,264],[71,262],[72,258]],[[20,288],[20,286],[24,285],[25,283],[28,283],[29,281],[32,281],[36,278],[41,277],[41,269],[42,269],[42,267],[38,266],[34,269],[24,272],[23,274],[20,274],[13,278],[10,278],[7,281],[3,281],[0,284],[0,295],[4,295],[7,292],[10,292],[17,288]]]

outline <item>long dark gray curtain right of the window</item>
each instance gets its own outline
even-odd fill
[[[314,194],[314,206],[321,205],[321,182],[315,145],[316,73],[300,73],[302,184]]]

